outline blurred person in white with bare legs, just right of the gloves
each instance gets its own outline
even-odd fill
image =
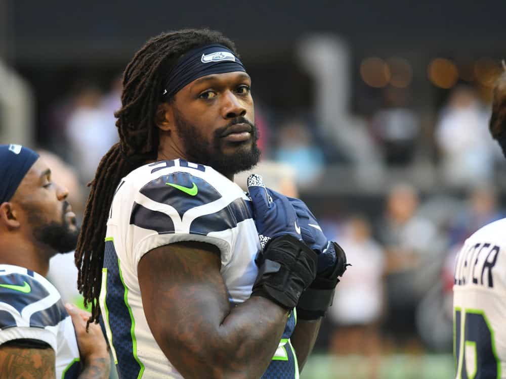
[[[384,306],[386,260],[382,247],[371,237],[370,225],[365,217],[351,217],[339,243],[346,249],[353,269],[341,279],[333,305],[329,308],[329,318],[338,325],[331,337],[331,351],[339,355],[368,357],[365,377],[373,379],[378,374],[381,350],[378,322]],[[357,369],[360,371],[360,368]],[[360,377],[360,373],[354,372],[353,377]]]

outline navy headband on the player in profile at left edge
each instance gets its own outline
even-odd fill
[[[38,154],[21,145],[0,145],[0,204],[10,201]]]

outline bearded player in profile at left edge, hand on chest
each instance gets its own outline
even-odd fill
[[[88,312],[65,309],[49,259],[77,243],[68,191],[30,149],[0,145],[0,377],[106,378],[109,354]],[[67,313],[68,311],[68,313]],[[74,327],[75,326],[75,327]],[[80,352],[80,354],[79,354]]]

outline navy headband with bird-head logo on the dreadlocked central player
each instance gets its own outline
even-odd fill
[[[230,49],[216,43],[201,46],[178,59],[168,75],[162,95],[169,99],[195,79],[234,71],[246,72],[246,69]]]

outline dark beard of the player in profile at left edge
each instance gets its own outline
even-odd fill
[[[75,219],[69,221],[65,218],[65,210],[68,205],[67,201],[62,204],[62,219],[60,222],[44,222],[43,220],[46,217],[43,212],[25,205],[25,211],[29,215],[28,222],[32,227],[35,240],[49,246],[58,253],[71,252],[77,246],[79,228],[75,225]],[[75,228],[72,228],[72,225]]]

